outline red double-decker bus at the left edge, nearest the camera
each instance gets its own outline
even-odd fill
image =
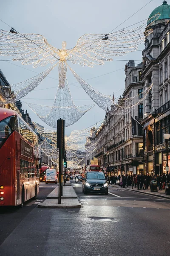
[[[0,206],[23,207],[39,193],[37,135],[16,111],[0,108]]]

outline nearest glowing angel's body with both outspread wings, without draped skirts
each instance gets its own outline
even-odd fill
[[[33,67],[59,63],[60,85],[65,84],[67,71],[66,61],[73,64],[93,67],[95,64],[103,65],[105,61],[113,61],[113,56],[122,56],[127,52],[133,52],[142,44],[145,37],[153,32],[151,25],[159,18],[156,14],[147,21],[133,29],[121,29],[109,34],[85,34],[82,35],[72,49],[66,49],[66,42],[62,42],[62,49],[57,49],[46,38],[38,34],[20,34],[7,32],[0,29],[0,55],[15,56],[14,61],[22,61],[22,64],[32,64]],[[145,32],[144,32],[145,31]]]

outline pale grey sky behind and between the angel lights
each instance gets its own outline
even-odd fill
[[[1,2],[0,19],[6,22],[9,26],[14,27],[14,29],[20,33],[36,33],[45,36],[48,43],[54,47],[61,48],[62,41],[66,41],[67,49],[69,49],[74,47],[79,37],[85,33],[107,34],[148,2],[150,2],[150,0],[6,0]],[[167,3],[169,4],[168,1]],[[118,29],[147,19],[153,9],[161,4],[161,0],[153,0],[144,7],[144,9],[119,26]],[[134,25],[134,27],[135,26],[138,25]],[[10,30],[10,28],[2,21],[0,21],[0,28],[7,31]],[[144,44],[139,46],[139,50],[142,49],[144,49]],[[0,56],[0,59],[11,59],[11,57]],[[115,60],[116,59],[127,61],[112,61],[103,66],[96,65],[93,68],[82,67],[78,64],[70,64],[70,66],[84,80],[122,69],[106,76],[87,81],[101,93],[113,95],[114,92],[114,96],[117,97],[123,93],[125,87],[125,64],[128,60],[142,61],[142,51],[131,52],[122,57],[115,57]],[[10,63],[16,64],[17,66]],[[139,61],[136,61],[136,64],[138,63]],[[19,61],[0,62],[0,69],[10,84],[29,79],[36,75],[36,73],[33,73],[32,71],[40,73],[46,68],[47,67],[40,67],[33,69],[31,65],[22,65]],[[25,97],[34,99],[21,99],[21,101],[40,105],[52,105],[58,86],[58,81],[55,80],[58,79],[58,68],[56,67],[49,76],[54,79],[46,77],[34,91]],[[72,98],[75,100],[75,105],[93,104],[93,101],[85,91],[80,88],[81,86],[78,83],[71,84],[76,82],[76,79],[74,79],[70,70],[67,72],[67,79],[70,84],[69,87]],[[49,87],[56,88],[39,90]],[[45,125],[45,123],[42,122],[42,120],[39,119],[25,103],[23,103],[23,109],[28,109],[28,113],[33,121],[39,122],[41,125],[49,128],[48,125]],[[95,106],[82,116],[77,123],[66,128],[65,133],[70,134],[72,130],[83,129],[93,125],[94,122],[98,122],[103,119],[104,116],[105,111],[98,106]]]

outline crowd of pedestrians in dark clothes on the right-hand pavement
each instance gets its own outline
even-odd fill
[[[141,174],[133,174],[133,175],[113,175],[111,177],[108,177],[108,182],[114,185],[118,185],[120,187],[129,187],[134,186],[137,189],[148,189],[150,186],[150,181],[156,180],[157,185],[159,189],[164,189],[165,184],[167,183],[167,180],[169,180],[169,177],[167,175],[149,175],[148,173],[144,175]]]

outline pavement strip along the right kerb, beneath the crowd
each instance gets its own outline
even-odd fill
[[[120,188],[120,186],[117,186],[117,185],[109,184],[109,186]],[[157,197],[170,199],[170,195],[166,195],[164,189],[160,189],[160,190],[158,189],[158,192],[150,192],[150,188],[149,189],[139,189],[138,190],[137,188],[133,187],[133,189],[132,189],[132,186],[129,186],[128,188],[126,187],[125,189],[133,191],[133,192],[137,192],[137,193],[143,193],[143,194],[146,194],[146,195],[154,195],[154,196],[157,196]]]

